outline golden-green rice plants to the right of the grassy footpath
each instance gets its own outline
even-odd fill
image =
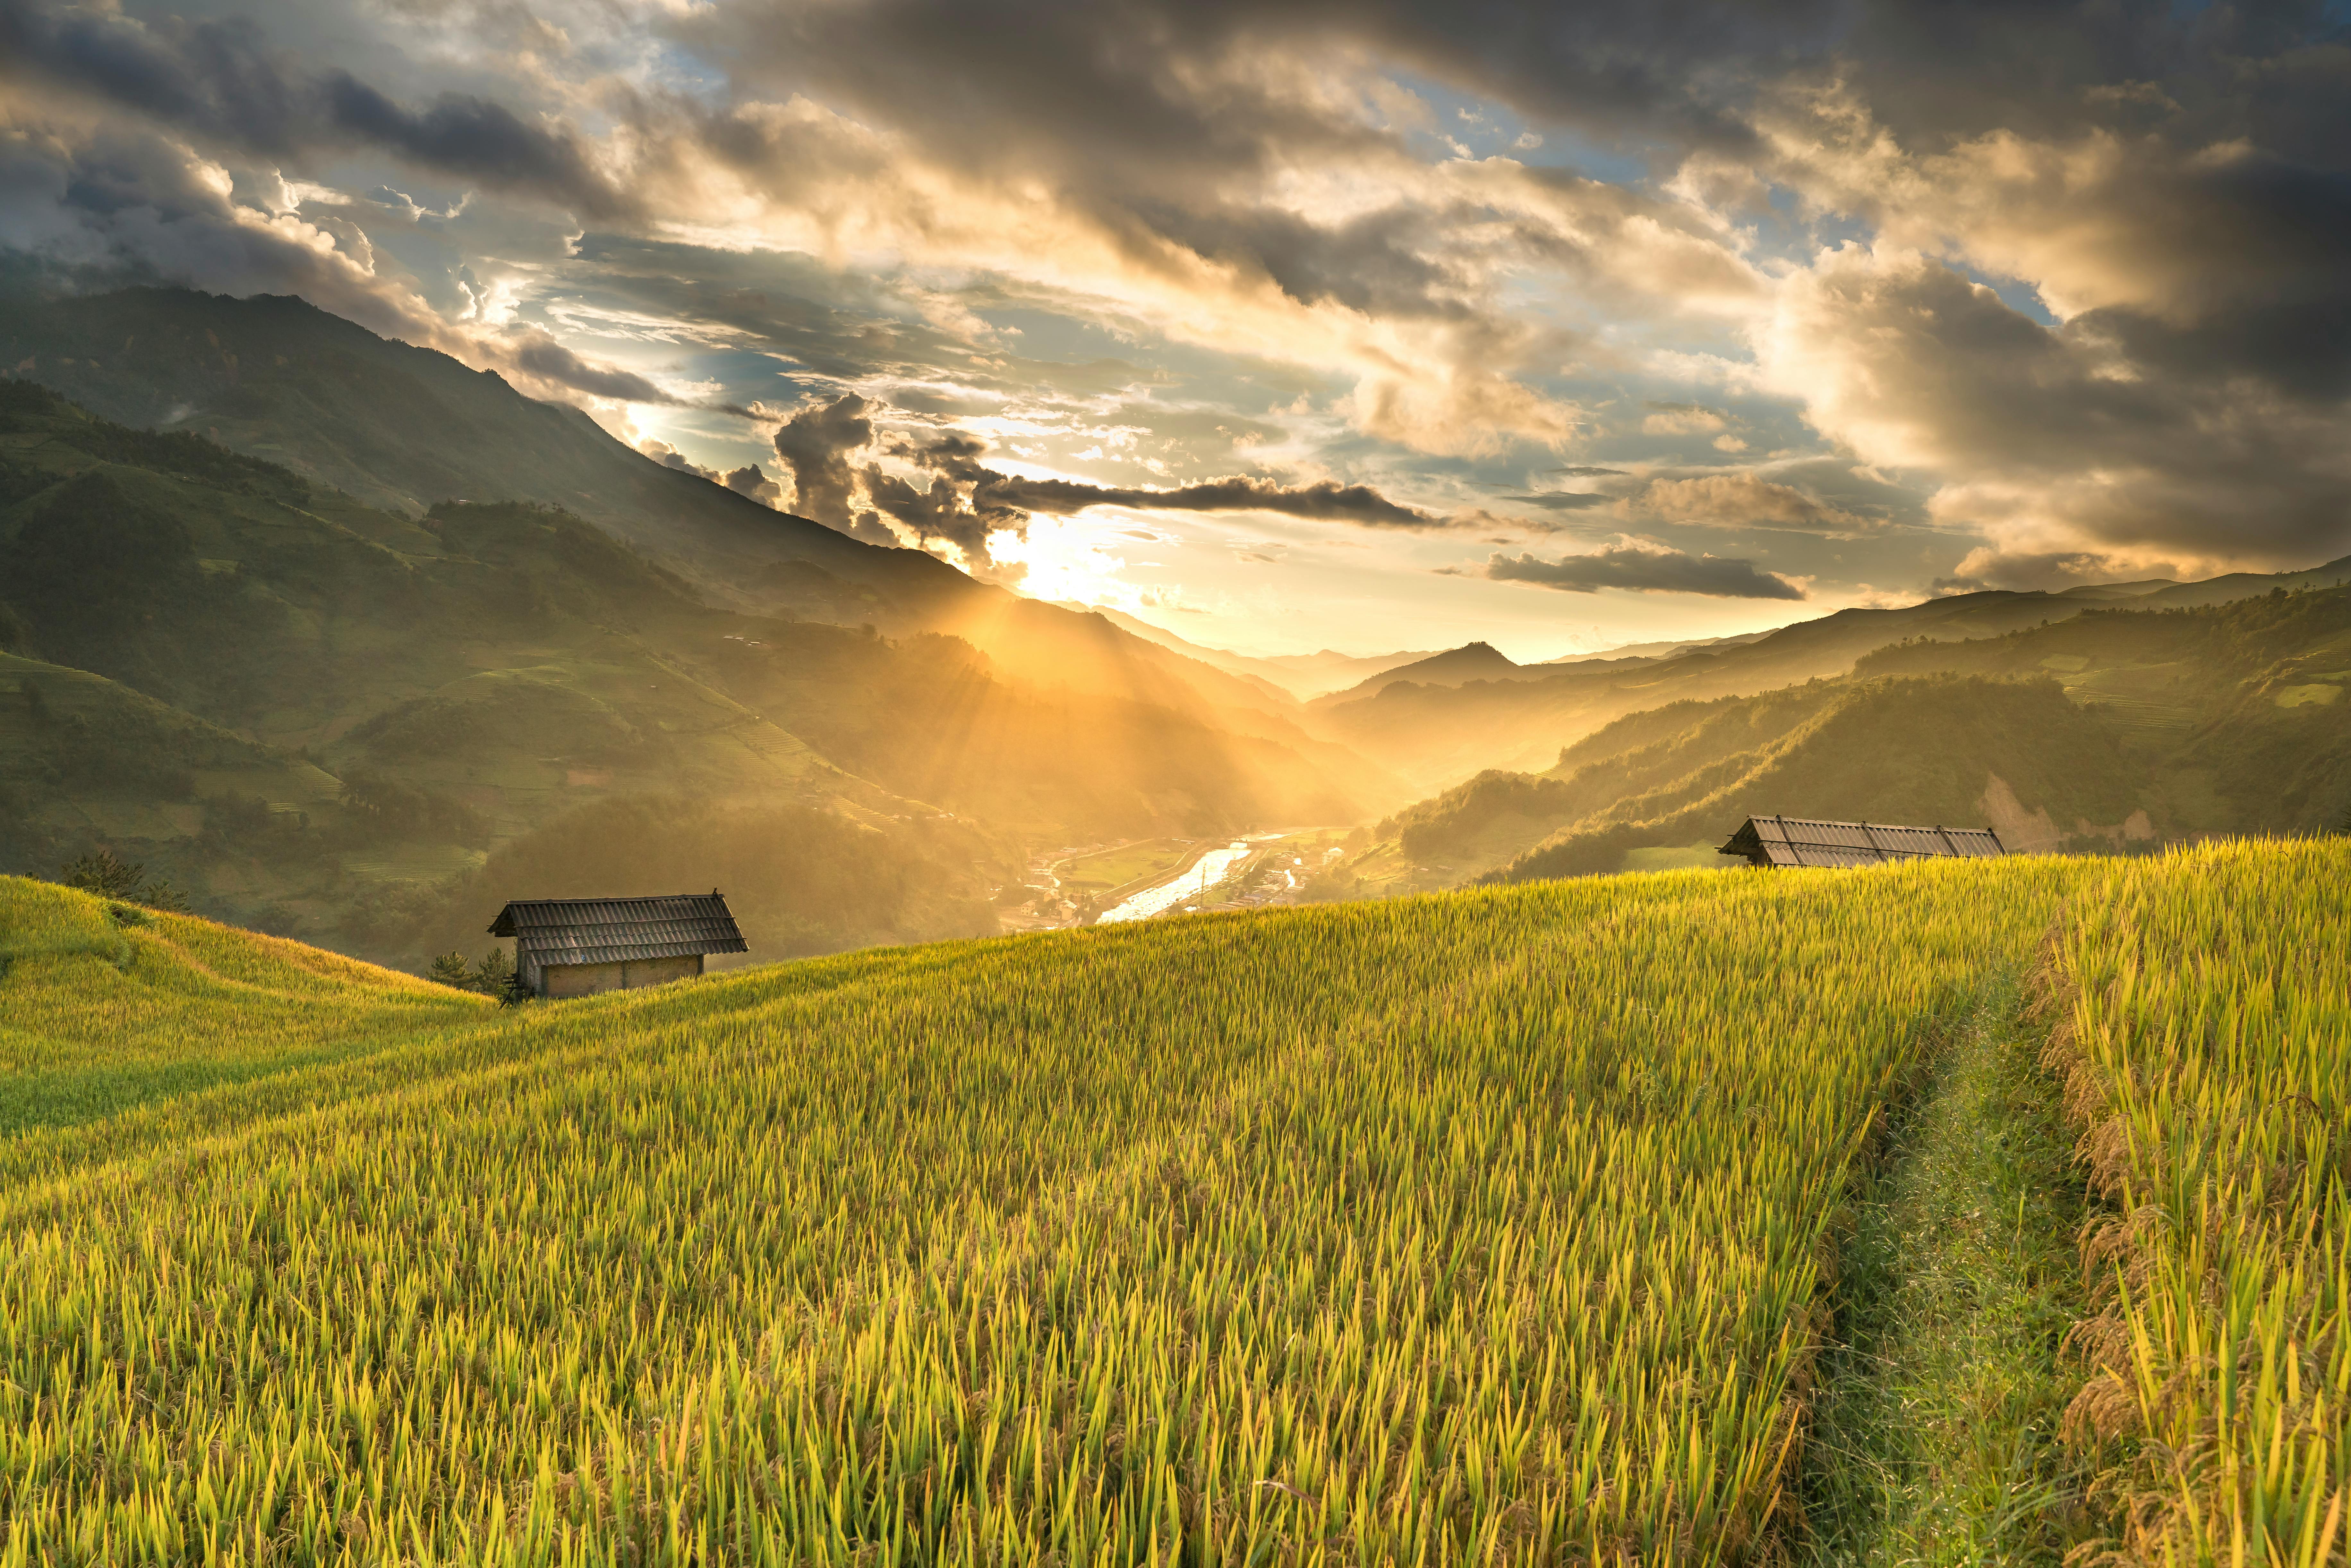
[[[2351,900],[2342,842],[2205,846],[2078,898],[2050,1060],[2111,1213],[2069,1410],[2144,1563],[2342,1561]]]

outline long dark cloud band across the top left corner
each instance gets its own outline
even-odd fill
[[[268,158],[379,148],[585,216],[635,202],[607,183],[569,129],[524,122],[503,103],[440,94],[395,103],[348,71],[306,71],[252,21],[143,24],[120,12],[0,0],[0,73],[71,87],[188,136]]]

